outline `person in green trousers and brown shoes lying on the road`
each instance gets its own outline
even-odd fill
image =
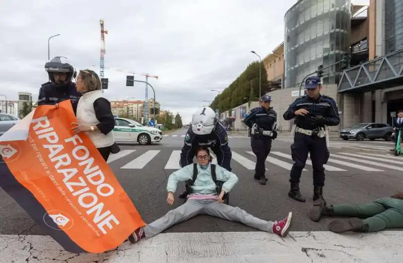
[[[386,228],[403,228],[403,192],[360,206],[325,207],[315,218],[320,220],[322,216],[351,217],[347,220],[332,221],[329,230],[334,233],[376,232]]]

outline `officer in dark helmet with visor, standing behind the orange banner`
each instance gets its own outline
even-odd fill
[[[61,58],[56,56],[45,63],[50,81],[42,84],[39,90],[38,106],[54,105],[68,99],[75,105],[81,97],[81,93],[76,90],[76,84],[73,83],[77,72],[70,63],[62,62]]]

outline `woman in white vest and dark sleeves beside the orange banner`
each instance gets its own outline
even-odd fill
[[[77,104],[76,116],[78,123],[73,127],[75,133],[84,132],[91,139],[105,161],[113,152],[115,137],[113,128],[115,119],[110,102],[101,91],[101,81],[91,70],[80,71],[76,89],[83,94]],[[114,153],[114,152],[113,152]]]

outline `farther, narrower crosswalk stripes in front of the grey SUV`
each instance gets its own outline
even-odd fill
[[[293,138],[277,139],[277,141],[293,143]],[[389,151],[393,148],[393,143],[385,141],[373,141],[371,143],[366,142],[344,142],[336,139],[335,141],[329,142],[330,148],[360,148],[367,150],[378,150],[378,151]]]

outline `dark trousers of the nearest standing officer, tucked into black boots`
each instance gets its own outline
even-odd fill
[[[294,165],[291,168],[290,182],[299,183],[308,153],[312,161],[313,185],[324,186],[325,175],[323,165],[327,163],[330,157],[326,146],[326,138],[308,136],[301,133],[295,134],[294,144],[291,145],[291,156]]]

